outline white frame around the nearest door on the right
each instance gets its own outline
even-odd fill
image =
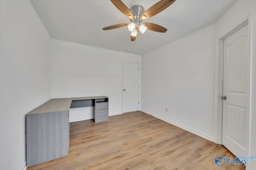
[[[241,20],[236,21],[234,25],[229,27],[222,35],[216,37],[215,40],[215,56],[214,56],[214,122],[213,122],[213,137],[214,143],[222,145],[222,100],[220,96],[223,94],[223,68],[224,68],[224,39],[231,35],[232,33],[238,31],[240,28],[248,24],[249,31],[249,43],[250,47],[250,62],[252,72],[252,12],[247,14]],[[250,93],[251,93],[251,78],[250,76]],[[249,95],[250,95],[249,93]],[[251,98],[251,95],[250,95]],[[251,108],[251,104],[249,109]],[[251,118],[251,109],[249,110],[249,117]],[[250,125],[249,125],[250,134]],[[248,145],[249,146],[249,145]],[[248,152],[248,148],[246,148]]]

